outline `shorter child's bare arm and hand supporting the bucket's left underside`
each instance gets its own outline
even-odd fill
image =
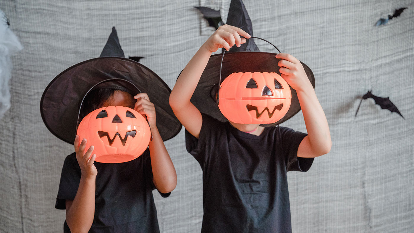
[[[66,223],[72,233],[88,232],[94,221],[95,214],[95,178],[94,161],[96,155],[89,159],[94,147],[91,146],[83,154],[86,139],[79,146],[79,136],[75,138],[76,159],[82,171],[79,187],[73,201],[66,200]]]

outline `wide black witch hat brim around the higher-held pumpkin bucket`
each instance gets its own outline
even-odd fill
[[[221,71],[221,82],[233,72],[275,72],[280,75],[279,66],[277,62],[280,59],[275,58],[276,53],[265,52],[233,52],[226,53],[223,58],[223,66]],[[200,81],[195,88],[191,102],[196,106],[200,112],[210,115],[217,120],[226,122],[227,119],[221,114],[219,106],[213,98],[209,98],[217,91],[220,76],[220,63],[222,54],[212,55],[207,63],[204,72],[201,75]],[[308,76],[312,86],[315,88],[315,77],[312,70],[301,62],[303,68]],[[291,105],[284,117],[272,124],[263,124],[262,126],[274,126],[288,120],[301,110],[296,91],[292,88]],[[212,94],[213,93],[213,94]]]

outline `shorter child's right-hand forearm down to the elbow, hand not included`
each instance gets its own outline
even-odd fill
[[[162,193],[171,192],[177,185],[177,174],[157,127],[151,129],[149,142],[154,185]]]

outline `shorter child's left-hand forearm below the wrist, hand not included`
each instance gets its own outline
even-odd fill
[[[75,199],[66,208],[66,223],[72,233],[88,232],[95,214],[95,177],[81,177]]]

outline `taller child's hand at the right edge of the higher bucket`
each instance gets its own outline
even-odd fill
[[[301,62],[288,53],[279,53],[276,58],[282,59],[277,65],[280,66],[282,78],[296,91],[307,87],[310,82]]]

